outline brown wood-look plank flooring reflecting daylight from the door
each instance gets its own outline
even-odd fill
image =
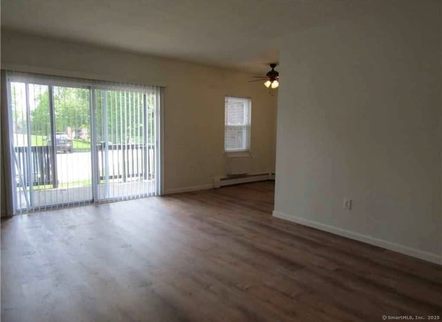
[[[271,217],[248,183],[1,221],[1,321],[439,315],[442,267]]]

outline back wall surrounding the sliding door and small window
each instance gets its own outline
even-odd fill
[[[164,189],[202,188],[224,170],[224,97],[251,97],[252,172],[274,172],[276,96],[250,74],[1,32],[1,68],[166,86]]]

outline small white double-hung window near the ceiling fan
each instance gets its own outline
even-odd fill
[[[250,99],[226,97],[224,150],[250,150]]]

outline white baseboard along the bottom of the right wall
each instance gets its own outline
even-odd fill
[[[433,254],[430,252],[423,252],[422,250],[416,250],[404,245],[397,243],[392,243],[391,241],[385,241],[383,239],[377,239],[364,234],[358,234],[357,232],[352,232],[350,230],[345,230],[342,228],[337,228],[331,225],[325,225],[324,223],[318,223],[317,221],[309,221],[307,219],[302,219],[295,216],[290,216],[283,212],[278,212],[273,210],[273,217],[279,219],[285,219],[287,221],[292,221],[294,223],[299,223],[300,225],[306,225],[311,228],[316,228],[318,230],[323,230],[325,232],[331,232],[332,234],[337,234],[342,237],[347,237],[349,239],[355,239],[356,241],[362,241],[363,243],[369,243],[387,250],[392,250],[394,252],[400,252],[408,256],[413,256],[418,259],[423,259],[424,261],[430,261],[442,265],[442,256],[438,254]]]

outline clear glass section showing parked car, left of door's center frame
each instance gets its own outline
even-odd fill
[[[48,145],[55,151],[55,178],[54,184],[41,190],[41,194],[52,196],[48,205],[90,203],[93,182],[89,90],[50,86],[50,92],[53,126]]]

